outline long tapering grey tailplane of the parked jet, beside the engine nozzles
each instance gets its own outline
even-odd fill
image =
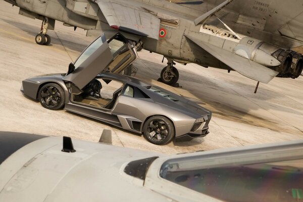
[[[225,51],[220,47],[206,43],[192,36],[186,35],[186,37],[201,48],[205,49],[205,51],[213,55],[222,63],[250,79],[254,79],[262,83],[268,83],[278,74],[278,72],[274,70],[271,70],[249,59],[237,56],[231,52]]]

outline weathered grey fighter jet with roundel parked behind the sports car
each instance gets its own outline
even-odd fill
[[[121,32],[167,58],[162,82],[176,85],[175,62],[231,70],[268,83],[275,76],[297,78],[303,44],[302,1],[206,0],[199,8],[147,0],[5,0],[19,14],[42,20],[38,44],[48,44],[55,21],[87,30],[88,36]],[[258,86],[258,85],[257,85]],[[256,88],[257,89],[257,88]]]

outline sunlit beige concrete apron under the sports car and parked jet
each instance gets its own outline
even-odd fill
[[[65,110],[51,111],[23,96],[21,82],[27,77],[65,73],[93,38],[85,31],[56,22],[49,31],[52,43],[37,45],[34,37],[41,21],[18,15],[19,9],[0,2],[0,130],[16,131],[98,141],[103,129],[111,129],[113,143],[162,153],[184,153],[219,147],[241,146],[301,139],[303,137],[303,77],[275,78],[269,84],[256,83],[236,72],[177,64],[182,87],[174,88],[156,80],[162,56],[139,52],[136,77],[175,93],[201,100],[213,112],[206,137],[189,142],[157,146],[143,136]],[[165,61],[166,62],[166,61]]]

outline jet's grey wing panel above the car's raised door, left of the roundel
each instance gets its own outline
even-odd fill
[[[160,19],[146,12],[131,0],[124,1],[106,1],[94,0],[104,14],[109,25],[120,31],[149,38],[158,39]]]

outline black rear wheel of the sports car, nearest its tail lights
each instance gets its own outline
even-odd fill
[[[143,136],[153,144],[167,144],[175,136],[175,128],[166,117],[154,116],[147,119],[144,123]]]

